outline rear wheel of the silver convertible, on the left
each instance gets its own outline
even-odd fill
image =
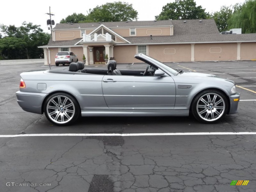
[[[44,103],[46,118],[55,125],[69,125],[77,120],[80,107],[77,101],[69,94],[55,93]]]

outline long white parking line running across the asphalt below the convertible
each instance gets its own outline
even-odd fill
[[[0,135],[0,137],[34,136],[164,136],[164,135],[256,135],[256,132],[199,132],[199,133],[61,133],[61,134],[20,134]]]

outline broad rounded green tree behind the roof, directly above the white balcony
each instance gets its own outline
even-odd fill
[[[133,9],[132,4],[125,2],[106,3],[89,9],[85,22],[115,22],[137,20],[138,12]]]

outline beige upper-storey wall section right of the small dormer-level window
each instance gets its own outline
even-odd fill
[[[167,36],[171,35],[170,27],[159,27],[159,28],[136,28],[136,37],[143,37],[149,35],[156,36]]]

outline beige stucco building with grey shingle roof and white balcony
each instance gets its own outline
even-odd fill
[[[256,34],[219,33],[213,19],[57,24],[44,49],[45,65],[72,51],[86,65],[138,62],[144,53],[163,62],[256,59]]]

